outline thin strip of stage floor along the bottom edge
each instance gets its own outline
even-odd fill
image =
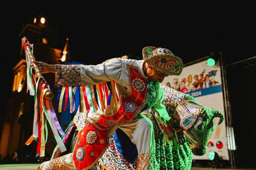
[[[0,170],[37,170],[40,164],[7,164],[0,165]],[[191,170],[213,170],[210,168],[192,167]],[[216,170],[256,170],[256,169],[216,169]]]

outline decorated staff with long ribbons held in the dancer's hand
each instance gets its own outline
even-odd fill
[[[43,157],[45,152],[45,144],[48,137],[48,128],[46,124],[48,121],[61,152],[64,152],[66,151],[66,147],[64,146],[60,135],[65,136],[65,133],[61,129],[60,123],[58,122],[54,111],[53,104],[51,102],[53,99],[53,93],[50,91],[49,84],[40,73],[40,67],[35,64],[36,60],[33,55],[33,44],[29,44],[29,41],[26,37],[22,38],[22,42],[24,45],[27,61],[27,90],[29,90],[30,95],[34,96],[35,101],[33,135],[30,136],[25,144],[29,145],[33,140],[36,140],[38,143],[36,155]],[[31,64],[33,64],[35,67],[37,80],[32,73]]]

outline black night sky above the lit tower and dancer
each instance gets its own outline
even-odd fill
[[[224,64],[256,56],[255,1],[31,2],[6,1],[0,6],[4,98],[11,93],[11,69],[21,59],[22,24],[39,14],[59,29],[55,48],[63,49],[68,37],[71,59],[87,64],[126,54],[141,56],[145,46],[170,49],[184,63],[211,51],[222,52]]]

